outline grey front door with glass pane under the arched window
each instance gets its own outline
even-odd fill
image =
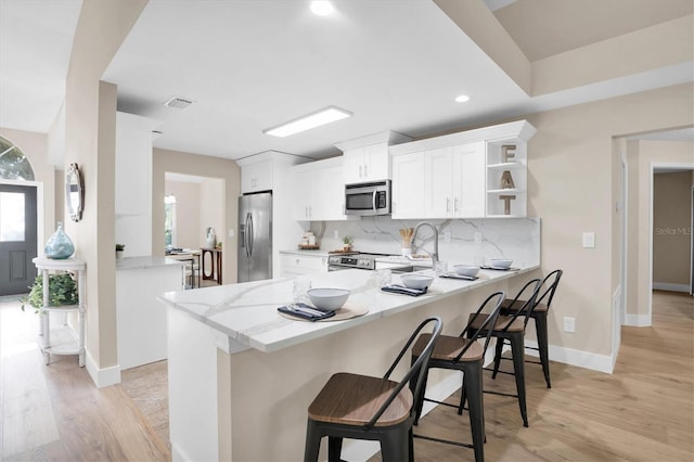
[[[26,294],[36,278],[36,187],[0,184],[0,295]]]

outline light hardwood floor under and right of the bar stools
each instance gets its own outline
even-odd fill
[[[515,398],[485,394],[486,460],[693,461],[694,298],[654,292],[653,300],[652,328],[622,328],[613,374],[552,362],[548,389],[541,367],[526,364],[529,428]],[[485,388],[514,392],[513,376],[485,372]],[[414,433],[472,440],[467,414],[445,407]],[[472,449],[414,445],[416,461],[474,460]]]

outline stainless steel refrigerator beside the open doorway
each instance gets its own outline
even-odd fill
[[[272,278],[272,193],[239,197],[239,282]]]

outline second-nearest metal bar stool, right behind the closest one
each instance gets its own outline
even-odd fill
[[[463,413],[463,406],[467,397],[468,412],[470,412],[470,426],[473,434],[473,444],[451,441],[441,438],[435,438],[425,435],[413,435],[415,438],[428,439],[437,442],[446,442],[449,445],[463,446],[466,448],[473,448],[475,450],[475,461],[481,462],[485,460],[485,411],[484,411],[484,398],[483,398],[483,363],[485,360],[485,352],[489,345],[489,338],[491,334],[491,326],[494,325],[497,318],[499,317],[499,310],[501,303],[505,295],[503,292],[496,292],[487,297],[485,301],[479,306],[479,309],[472,315],[472,319],[476,320],[477,317],[483,316],[484,310],[488,310],[489,313],[485,315],[486,319],[478,329],[473,332],[472,337],[465,338],[465,334],[471,329],[471,322],[467,323],[463,332],[457,337],[449,335],[439,336],[434,346],[434,352],[432,352],[432,359],[429,360],[428,369],[452,369],[463,372],[463,384],[461,388],[460,405],[449,405],[447,402],[437,401],[424,397],[426,389],[426,376],[424,376],[424,385],[420,390],[416,402],[416,416],[414,424],[420,420],[422,414],[422,406],[424,401],[437,402],[439,405],[449,406],[458,409],[458,414]],[[487,308],[492,306],[491,309]],[[477,338],[481,336],[481,332],[486,332],[485,343],[480,345]],[[419,355],[424,351],[425,345],[428,345],[428,334],[424,334],[417,338],[412,348],[412,362],[419,359]]]

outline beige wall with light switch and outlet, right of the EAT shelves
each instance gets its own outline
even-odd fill
[[[550,344],[613,354],[613,138],[691,126],[692,99],[693,86],[681,85],[527,117],[538,129],[528,146],[528,215],[542,218],[542,271],[564,270]],[[583,231],[595,232],[595,248],[582,248]],[[563,317],[576,318],[576,333],[563,332]]]

